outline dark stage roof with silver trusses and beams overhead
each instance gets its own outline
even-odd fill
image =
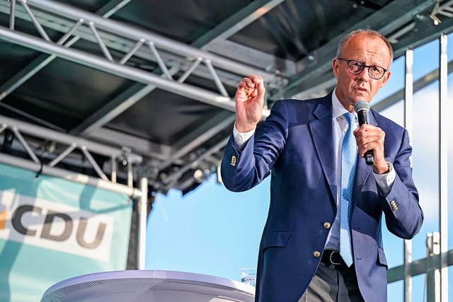
[[[10,127],[18,122],[19,132],[29,129],[23,139],[42,163],[67,152],[56,167],[96,175],[93,159],[110,176],[116,161],[119,182],[132,173],[134,183],[146,177],[153,192],[187,193],[217,172],[243,76],[264,77],[266,116],[279,98],[333,89],[331,60],[350,30],[379,30],[397,58],[450,33],[452,6],[432,0],[3,0],[1,151],[29,157]],[[55,141],[64,136],[124,156],[68,152],[62,139]]]

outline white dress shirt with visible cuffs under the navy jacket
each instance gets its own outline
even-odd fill
[[[343,144],[343,138],[345,137],[346,130],[348,130],[348,121],[343,117],[343,114],[348,112],[343,105],[341,105],[340,100],[336,97],[335,94],[336,90],[332,93],[332,106],[333,106],[333,146],[336,150],[335,152],[335,160],[336,160],[336,184],[337,187],[340,187],[340,180],[341,180],[341,145]],[[354,129],[359,127],[359,123],[357,122],[357,114],[354,112],[355,115],[355,124]],[[234,124],[233,129],[233,136],[234,136],[234,145],[239,150],[243,149],[243,146],[247,143],[247,141],[255,134],[255,129],[252,129],[249,132],[240,133],[236,129],[236,124]],[[363,158],[357,158],[357,161],[365,161]],[[374,178],[376,179],[377,185],[379,186],[382,194],[386,195],[390,192],[391,186],[393,185],[396,172],[393,168],[393,165],[390,163],[390,171],[389,173],[385,174],[374,174]],[[335,217],[335,221],[332,224],[331,231],[328,235],[326,241],[326,249],[328,250],[338,250],[339,247],[339,240],[340,240],[340,210],[338,201],[340,200],[340,190],[337,190],[336,194],[336,203],[337,203],[337,215]]]

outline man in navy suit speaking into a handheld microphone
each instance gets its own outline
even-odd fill
[[[384,36],[355,30],[333,59],[334,91],[279,100],[259,127],[263,79],[239,83],[222,180],[241,192],[272,170],[256,301],[386,301],[382,214],[391,233],[410,239],[423,212],[406,129],[373,110],[369,124],[358,127],[354,106],[372,101],[390,77],[392,60]],[[369,150],[372,165],[363,158]]]

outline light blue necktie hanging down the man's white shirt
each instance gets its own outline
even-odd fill
[[[341,195],[340,195],[340,255],[346,265],[352,265],[352,245],[350,234],[350,215],[352,204],[352,185],[354,183],[355,165],[357,163],[357,144],[352,124],[354,114],[348,112],[343,115],[348,120],[348,130],[341,147]]]

